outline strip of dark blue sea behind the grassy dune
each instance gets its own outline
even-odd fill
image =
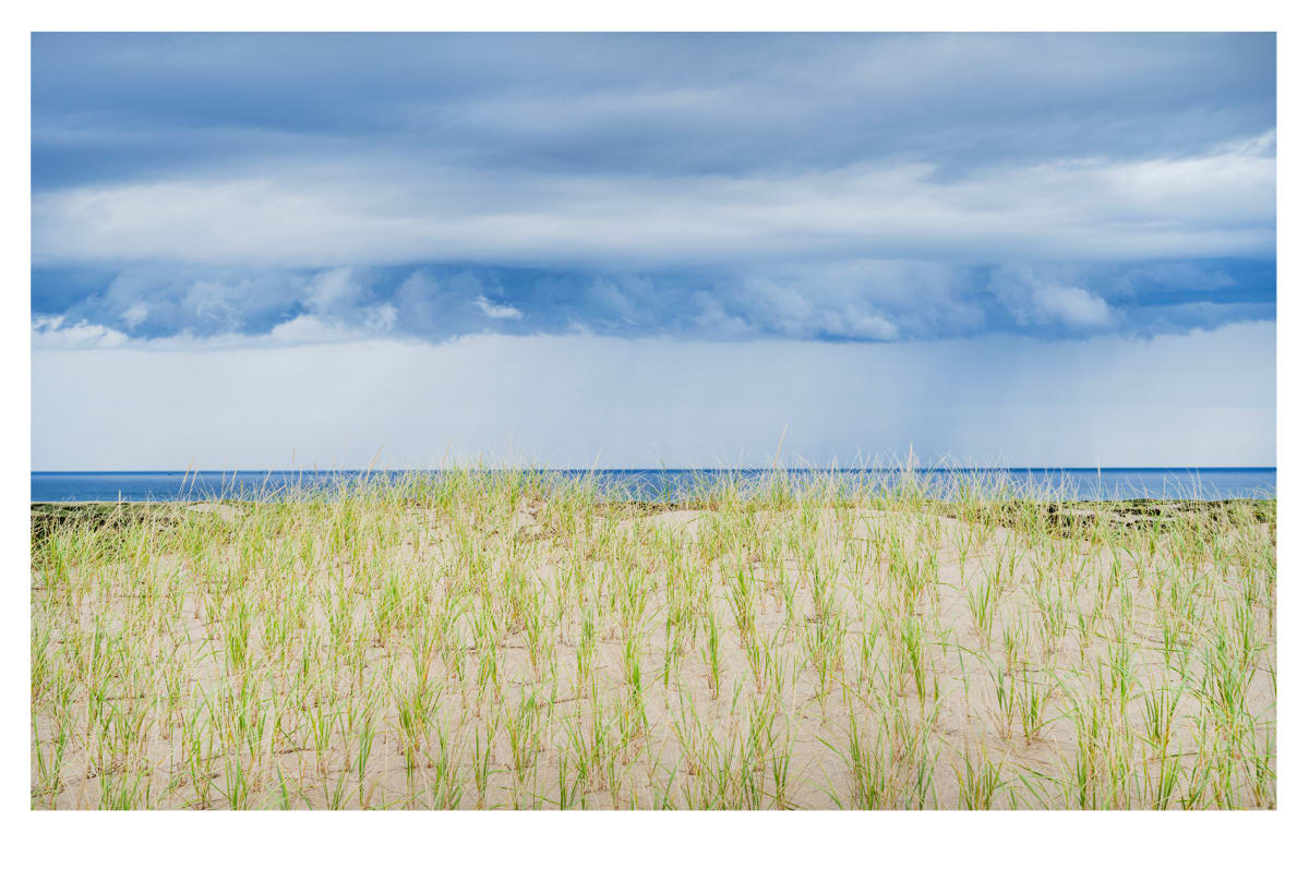
[[[440,474],[440,471],[425,471]],[[192,501],[213,497],[283,497],[289,492],[331,488],[359,480],[363,471],[39,471],[31,474],[33,501]],[[399,471],[373,471],[372,476]],[[679,495],[704,484],[750,487],[771,484],[776,471],[767,469],[627,469],[558,471],[568,479],[592,478],[598,487],[618,497],[677,500]],[[848,480],[851,484],[895,486],[898,470],[840,470],[787,472],[796,484],[814,474]],[[927,469],[915,470],[915,480],[936,496],[949,497],[959,480],[982,480],[987,486],[1012,484],[1022,491],[1059,493],[1071,500],[1130,500],[1233,497],[1276,497],[1275,467],[1008,467],[1008,469]]]

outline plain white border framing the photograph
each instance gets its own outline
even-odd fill
[[[13,7],[10,7],[12,9]],[[10,423],[4,427],[5,499],[3,546],[9,572],[4,606],[4,794],[13,865],[46,865],[93,860],[113,864],[178,861],[187,865],[259,864],[280,860],[385,865],[414,864],[546,865],[606,862],[627,866],[691,864],[805,865],[836,860],[915,866],[924,861],[962,865],[1051,862],[1089,865],[1106,857],[1130,865],[1166,860],[1170,865],[1276,861],[1268,848],[1291,848],[1300,832],[1289,819],[1302,810],[1304,751],[1296,728],[1282,728],[1275,813],[1111,817],[1076,813],[835,814],[792,817],[745,813],[657,813],[618,815],[552,813],[459,815],[399,813],[330,817],[327,813],[266,815],[259,813],[107,813],[55,814],[29,810],[30,722],[26,692],[27,586],[20,565],[27,559],[26,503],[30,486],[30,31],[33,30],[1278,30],[1279,243],[1278,277],[1278,489],[1283,526],[1279,560],[1289,582],[1280,595],[1282,622],[1292,630],[1279,639],[1283,666],[1283,721],[1297,722],[1304,711],[1304,643],[1293,630],[1305,614],[1299,588],[1306,564],[1302,546],[1304,476],[1300,454],[1306,416],[1297,400],[1305,366],[1300,331],[1306,322],[1299,296],[1304,285],[1302,162],[1304,96],[1291,82],[1306,81],[1309,44],[1289,3],[1141,3],[1102,0],[1090,8],[1033,1],[957,0],[878,8],[810,0],[805,4],[732,1],[707,4],[675,0],[658,7],[622,8],[597,1],[547,4],[483,3],[458,9],[435,4],[374,0],[365,7],[297,0],[234,0],[213,7],[128,1],[62,3],[58,9],[8,12],[3,31],[5,132],[4,233],[7,306],[4,390]],[[1287,615],[1289,614],[1289,615]],[[1299,849],[1299,848],[1297,848]],[[1199,860],[1199,864],[1192,861]]]

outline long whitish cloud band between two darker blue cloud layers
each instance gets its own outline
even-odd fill
[[[1056,161],[942,179],[927,162],[668,179],[357,164],[38,192],[33,259],[331,267],[480,259],[768,263],[817,258],[1270,255],[1275,156]],[[331,293],[348,292],[339,276]]]

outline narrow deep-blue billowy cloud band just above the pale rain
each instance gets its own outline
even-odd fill
[[[961,267],[825,263],[750,274],[467,266],[37,270],[33,311],[131,338],[465,334],[895,340],[980,332],[1153,335],[1272,319],[1275,270],[1249,260]],[[1086,287],[1098,288],[1097,292]]]

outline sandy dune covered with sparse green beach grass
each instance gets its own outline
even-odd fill
[[[34,809],[1271,809],[1276,501],[478,470],[33,506]]]

